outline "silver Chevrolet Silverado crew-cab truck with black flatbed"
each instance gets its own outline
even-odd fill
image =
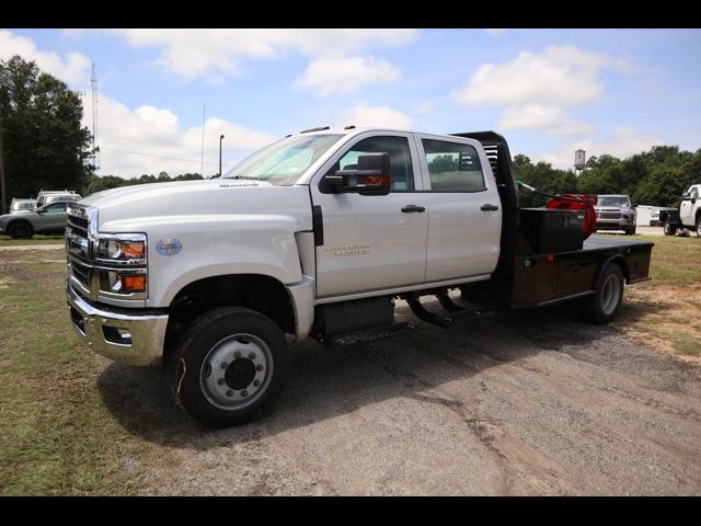
[[[163,363],[192,416],[234,425],[281,391],[290,341],[415,329],[394,323],[398,298],[443,327],[563,300],[612,319],[623,283],[648,279],[652,243],[583,242],[583,220],[519,208],[497,134],[317,128],[221,179],[69,205],[67,299],[95,352]],[[428,295],[445,312],[422,305]]]

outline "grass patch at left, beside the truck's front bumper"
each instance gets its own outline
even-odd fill
[[[120,459],[149,444],[102,402],[64,278],[54,253],[0,252],[0,495],[131,494],[140,472]]]

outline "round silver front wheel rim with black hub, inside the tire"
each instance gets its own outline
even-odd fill
[[[273,378],[273,354],[253,334],[232,334],[215,344],[202,363],[199,385],[209,403],[240,410],[263,396]]]

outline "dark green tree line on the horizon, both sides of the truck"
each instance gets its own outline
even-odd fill
[[[4,199],[35,196],[44,190],[77,190],[90,195],[133,184],[203,179],[198,173],[143,174],[129,180],[97,175],[91,160],[91,134],[81,127],[80,96],[66,83],[20,56],[0,60],[0,176]],[[701,182],[701,149],[655,146],[625,159],[590,157],[584,170],[560,170],[514,157],[517,176],[541,192],[628,194],[634,204],[677,206],[681,192]],[[2,187],[0,187],[2,192]],[[542,206],[547,197],[521,191],[524,206]]]

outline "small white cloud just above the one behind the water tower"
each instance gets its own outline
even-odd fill
[[[498,127],[542,129],[548,135],[584,135],[593,130],[591,125],[567,117],[560,107],[540,104],[506,108]]]

